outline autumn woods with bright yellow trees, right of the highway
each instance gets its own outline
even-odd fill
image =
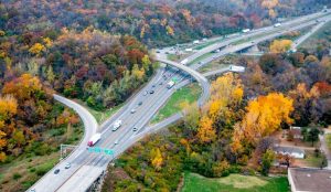
[[[271,151],[275,131],[330,125],[330,56],[301,51],[236,60],[245,73],[217,77],[202,109],[186,105],[183,120],[127,150],[108,167],[103,191],[177,191],[188,171],[267,175],[284,158]]]

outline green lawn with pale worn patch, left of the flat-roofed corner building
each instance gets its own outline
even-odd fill
[[[182,192],[287,192],[286,177],[265,178],[231,174],[225,178],[209,179],[185,172]]]

